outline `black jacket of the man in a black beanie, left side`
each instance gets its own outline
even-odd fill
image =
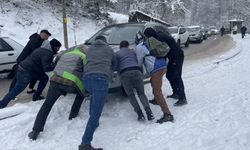
[[[20,66],[35,74],[52,71],[55,68],[55,63],[53,63],[54,54],[49,41],[46,40],[40,48],[37,48],[23,60]]]

